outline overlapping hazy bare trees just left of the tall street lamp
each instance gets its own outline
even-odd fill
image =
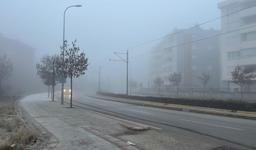
[[[60,57],[58,55],[44,55],[41,58],[42,64],[36,64],[37,75],[42,79],[44,84],[52,86],[52,101],[54,101],[54,86],[58,83]],[[49,87],[48,87],[49,97]]]

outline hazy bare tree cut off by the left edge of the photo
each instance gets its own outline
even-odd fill
[[[12,62],[7,59],[7,55],[4,54],[3,57],[0,56],[0,94],[2,90],[2,81],[8,80],[12,76]]]

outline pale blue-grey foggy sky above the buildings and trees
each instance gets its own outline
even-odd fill
[[[149,52],[157,42],[130,47],[163,37],[176,27],[190,28],[197,23],[218,18],[220,10],[217,4],[222,1],[1,0],[0,33],[34,47],[35,60],[39,62],[44,54],[60,53],[64,10],[68,6],[81,4],[82,7],[71,7],[66,11],[65,39],[68,43],[77,39],[77,45],[89,59],[89,68],[101,66],[102,80],[107,81],[110,75],[115,74],[113,78],[124,82],[124,62],[109,61],[118,59],[114,52],[129,50],[129,56]],[[220,29],[220,20],[203,26],[205,29],[211,27]],[[131,66],[141,62],[142,66],[132,68],[132,74],[143,82],[147,76],[141,74],[140,70],[148,62],[147,57],[130,60]],[[97,73],[88,69],[90,76],[96,80]]]

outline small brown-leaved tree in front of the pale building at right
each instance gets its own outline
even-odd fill
[[[243,70],[239,65],[237,65],[234,71],[231,72],[232,80],[234,80],[234,84],[238,84],[240,86],[242,100],[243,100],[242,88],[244,87],[244,84],[252,84],[252,79],[256,77],[255,74],[253,74],[252,72],[253,72],[253,68],[244,68]]]

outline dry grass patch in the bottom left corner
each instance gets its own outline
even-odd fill
[[[16,99],[17,96],[0,97],[0,150],[21,150],[36,142],[36,132],[26,128],[15,112]]]

